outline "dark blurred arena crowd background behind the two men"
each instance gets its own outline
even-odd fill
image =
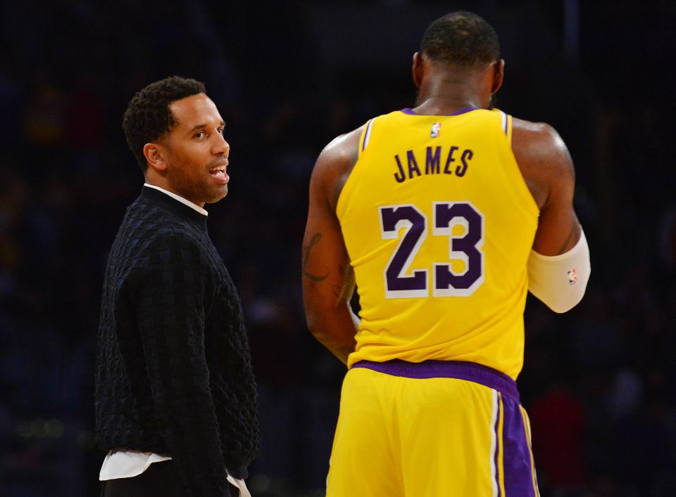
[[[344,368],[303,316],[309,175],[334,136],[412,106],[411,55],[460,8],[501,38],[499,107],[568,143],[592,250],[577,308],[527,304],[519,385],[542,495],[676,495],[674,1],[143,4],[0,4],[1,496],[99,493],[101,283],[142,185],[120,122],[135,91],[173,74],[206,82],[232,146],[209,231],[258,378],[249,487],[323,495]]]

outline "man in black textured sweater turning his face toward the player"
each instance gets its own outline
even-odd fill
[[[106,268],[96,354],[102,496],[226,496],[258,453],[239,302],[206,229],[230,146],[204,84],[146,86],[123,128],[146,183]]]

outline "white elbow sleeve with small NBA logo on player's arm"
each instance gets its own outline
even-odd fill
[[[561,255],[546,256],[530,251],[528,290],[554,312],[572,309],[582,300],[592,265],[584,231],[575,247]]]

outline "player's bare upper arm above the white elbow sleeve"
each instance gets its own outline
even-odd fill
[[[580,240],[572,207],[575,168],[568,148],[549,124],[514,119],[512,149],[540,209],[533,250],[542,255],[567,252]]]

